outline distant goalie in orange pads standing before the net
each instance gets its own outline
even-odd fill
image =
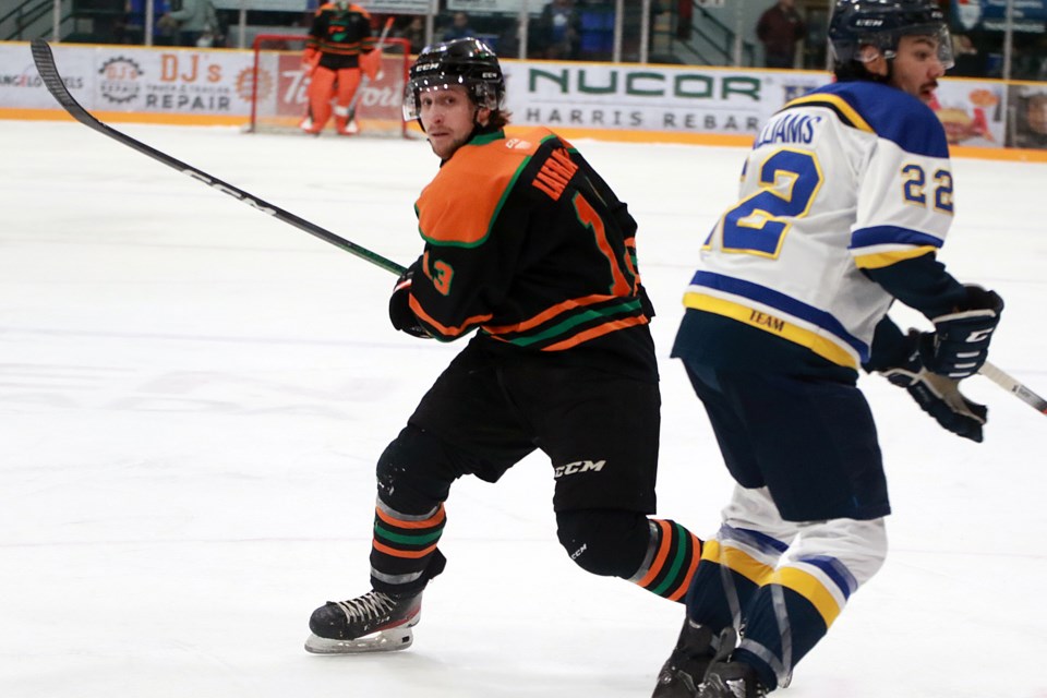
[[[348,0],[333,0],[316,10],[302,62],[310,75],[309,111],[301,122],[306,133],[318,134],[330,119],[335,97],[335,129],[341,135],[359,131],[349,105],[360,86],[361,69],[372,80],[378,53],[371,31],[371,15]]]

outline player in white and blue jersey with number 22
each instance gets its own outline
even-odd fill
[[[838,0],[829,40],[837,82],[767,123],[685,293],[673,356],[736,486],[655,698],[786,685],[880,568],[890,503],[861,369],[982,441],[986,409],[958,384],[984,363],[1003,303],[936,258],[953,217],[927,106],[952,65],[946,19],[935,0]],[[903,334],[895,300],[935,332]]]

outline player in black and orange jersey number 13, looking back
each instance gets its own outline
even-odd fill
[[[389,316],[418,337],[476,334],[378,459],[372,591],[317,609],[310,651],[408,647],[444,568],[452,483],[495,482],[535,449],[552,461],[557,535],[582,569],[682,601],[698,567],[701,542],[648,517],[660,394],[636,222],[553,132],[507,139],[504,99],[498,60],[477,39],[411,68],[405,117],[442,164],[416,203],[424,252]]]

